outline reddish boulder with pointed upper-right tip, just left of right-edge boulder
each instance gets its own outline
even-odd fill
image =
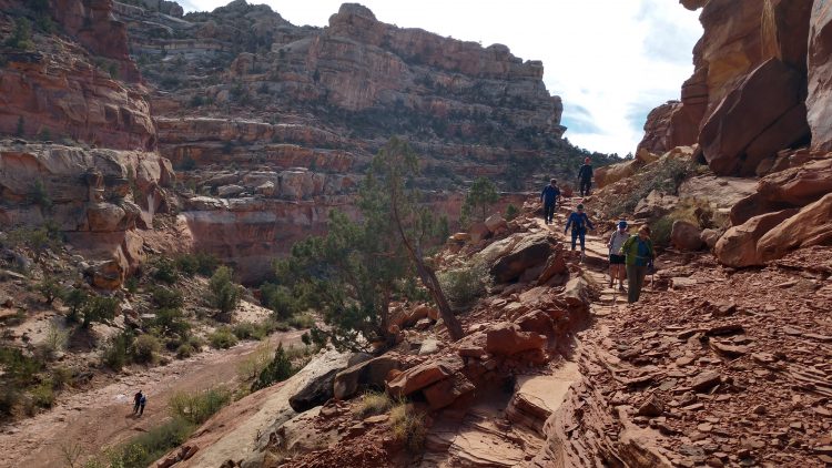
[[[798,210],[782,210],[753,216],[744,224],[733,226],[717,241],[714,254],[723,265],[743,267],[761,264],[758,241],[778,224],[798,213]]]

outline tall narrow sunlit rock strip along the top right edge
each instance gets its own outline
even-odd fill
[[[832,8],[815,0],[809,37],[809,126],[812,149],[832,151]]]

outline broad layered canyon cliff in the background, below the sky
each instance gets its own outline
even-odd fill
[[[451,220],[466,181],[537,189],[585,156],[560,140],[542,64],[505,45],[385,24],[353,3],[323,29],[243,0],[182,20],[118,2],[115,13],[155,88],[159,147],[186,187],[181,220],[245,281],[323,232],[329,210],[351,211],[393,135],[420,153],[419,183]]]

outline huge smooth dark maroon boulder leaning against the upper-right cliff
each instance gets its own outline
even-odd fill
[[[803,83],[800,71],[770,59],[728,93],[699,135],[713,172],[752,175],[761,161],[803,140]]]

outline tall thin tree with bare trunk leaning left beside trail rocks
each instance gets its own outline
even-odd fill
[[[374,230],[390,242],[400,242],[423,286],[428,291],[453,340],[461,339],[463,326],[454,315],[436,272],[425,260],[425,248],[436,240],[440,222],[416,187],[418,155],[404,140],[392,138],[364,177],[358,205]]]

